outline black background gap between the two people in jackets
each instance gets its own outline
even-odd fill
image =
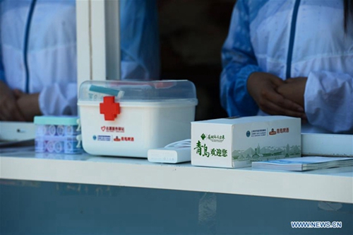
[[[220,52],[235,1],[158,1],[162,79],[193,81],[196,120],[227,117],[220,105]]]

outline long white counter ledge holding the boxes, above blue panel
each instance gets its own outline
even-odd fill
[[[353,203],[352,166],[304,172],[260,171],[18,151],[0,154],[0,178]]]

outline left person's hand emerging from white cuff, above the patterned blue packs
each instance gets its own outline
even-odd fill
[[[32,122],[35,116],[42,115],[38,100],[40,93],[28,94],[19,90],[14,90],[13,93],[15,93],[17,105],[23,113],[26,121]]]

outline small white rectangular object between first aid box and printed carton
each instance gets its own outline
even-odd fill
[[[160,149],[149,149],[148,161],[155,163],[177,164],[191,161],[190,147],[164,147]]]

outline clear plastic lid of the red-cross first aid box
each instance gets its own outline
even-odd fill
[[[78,101],[103,101],[115,96],[115,101],[192,101],[197,103],[196,88],[187,80],[161,81],[84,81]]]

